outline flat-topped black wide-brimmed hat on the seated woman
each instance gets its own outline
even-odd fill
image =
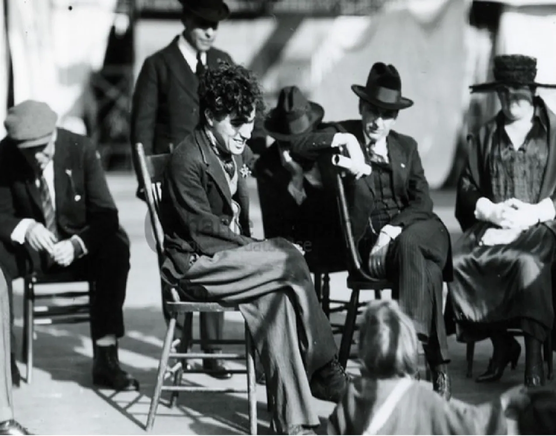
[[[494,57],[494,82],[471,85],[471,92],[495,91],[502,85],[556,88],[556,85],[535,82],[537,58],[525,55],[499,55]]]

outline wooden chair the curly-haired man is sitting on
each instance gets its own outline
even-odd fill
[[[165,167],[170,155],[145,156],[143,145],[137,143],[135,146],[137,162],[139,163],[139,176],[143,187],[148,206],[148,213],[151,219],[153,235],[155,237],[156,250],[158,255],[159,266],[163,261],[163,231],[160,220],[158,218],[158,205],[161,200],[160,183],[165,171]],[[162,288],[162,304],[165,307],[166,314],[169,318],[166,337],[162,346],[162,355],[158,364],[158,373],[156,385],[153,392],[151,405],[148,411],[146,429],[151,430],[155,421],[156,409],[160,402],[162,391],[172,392],[170,399],[170,407],[175,402],[179,392],[206,392],[206,393],[247,393],[249,400],[249,431],[250,434],[257,434],[257,396],[256,396],[256,379],[255,379],[255,348],[252,344],[252,338],[245,326],[245,340],[219,340],[214,341],[214,345],[245,345],[245,354],[222,353],[207,354],[193,353],[188,351],[187,339],[175,339],[175,330],[177,318],[180,315],[192,315],[201,312],[222,312],[222,311],[238,311],[237,306],[224,306],[218,303],[187,303],[180,301],[176,289]],[[185,333],[188,329],[183,329]],[[188,333],[187,333],[188,334]],[[178,359],[177,364],[169,368],[170,359]],[[247,374],[247,389],[234,389],[226,387],[190,387],[181,385],[183,374],[183,359],[226,359],[226,360],[246,360],[246,370],[227,370],[231,373]],[[206,370],[190,371],[195,373],[206,373]],[[172,385],[164,385],[165,375],[170,373],[173,375]]]

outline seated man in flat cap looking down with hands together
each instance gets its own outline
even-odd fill
[[[93,383],[135,390],[120,368],[130,241],[120,227],[100,158],[81,135],[56,127],[46,103],[8,110],[0,142],[0,267],[10,283],[69,269],[95,281],[91,295]]]

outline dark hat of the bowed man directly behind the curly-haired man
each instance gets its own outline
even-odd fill
[[[310,132],[324,118],[324,108],[307,100],[297,86],[282,88],[276,107],[265,117],[266,132],[279,141],[289,141]]]

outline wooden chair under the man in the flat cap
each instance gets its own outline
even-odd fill
[[[85,291],[39,291],[43,285],[88,283]],[[28,274],[24,277],[23,294],[23,363],[27,364],[26,382],[33,379],[33,338],[35,325],[88,323],[90,320],[90,293],[95,283],[86,277],[77,277],[71,270],[52,274]],[[76,303],[76,299],[86,302]],[[42,304],[38,304],[40,300]],[[71,304],[58,304],[71,300]]]

